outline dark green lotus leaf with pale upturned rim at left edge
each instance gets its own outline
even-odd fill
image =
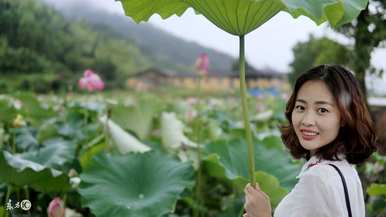
[[[66,191],[70,187],[68,176],[61,171],[7,151],[0,153],[0,182],[19,187],[28,185],[41,192]]]

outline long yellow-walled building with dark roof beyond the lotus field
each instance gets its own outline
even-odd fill
[[[195,73],[177,73],[170,69],[151,67],[131,75],[128,86],[136,90],[151,90],[164,85],[179,88],[195,89],[197,87],[198,75]],[[256,70],[247,68],[246,83],[254,93],[269,89],[266,92],[280,92],[283,88],[289,89],[286,74],[273,69]],[[201,79],[201,88],[205,91],[226,91],[238,89],[240,85],[238,72],[219,73],[209,72]],[[261,91],[260,91],[261,92]],[[264,91],[263,91],[264,92]],[[252,93],[252,92],[251,92]]]

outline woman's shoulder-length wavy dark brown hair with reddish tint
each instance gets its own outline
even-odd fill
[[[337,103],[342,126],[337,137],[316,150],[315,155],[326,160],[338,160],[344,154],[351,164],[363,163],[378,144],[366,102],[354,75],[339,65],[320,65],[300,75],[285,111],[288,125],[281,126],[282,140],[294,158],[310,158],[310,151],[300,145],[292,125],[292,111],[297,94],[307,81],[321,80],[331,91]]]

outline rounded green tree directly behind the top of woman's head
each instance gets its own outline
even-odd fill
[[[320,64],[350,66],[351,49],[329,38],[315,38],[297,43],[292,49],[294,60],[290,64],[289,81],[294,85],[296,78],[306,70]]]

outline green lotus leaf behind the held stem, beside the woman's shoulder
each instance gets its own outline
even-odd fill
[[[266,140],[268,141],[268,140]],[[272,140],[275,141],[275,140]],[[296,183],[300,165],[293,164],[283,150],[272,144],[255,145],[257,171],[269,173],[280,181],[281,186],[291,189]],[[210,174],[229,180],[248,177],[247,147],[244,141],[218,141],[206,147],[205,165]]]

